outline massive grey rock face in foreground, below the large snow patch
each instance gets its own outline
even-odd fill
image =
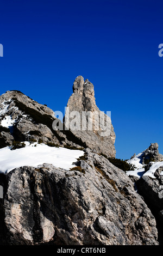
[[[1,174],[2,244],[158,245],[155,218],[122,170],[89,149],[76,165]]]

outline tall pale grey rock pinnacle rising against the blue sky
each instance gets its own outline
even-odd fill
[[[95,92],[91,82],[87,79],[84,81],[82,76],[76,78],[73,84],[73,94],[68,100],[67,108],[69,114],[67,114],[66,111],[66,115],[70,117],[70,121],[73,120],[73,117],[70,116],[73,111],[78,111],[78,113],[80,113],[80,118],[77,124],[79,127],[77,127],[76,130],[73,130],[72,133],[80,138],[82,142],[86,144],[86,147],[89,147],[98,153],[105,154],[108,157],[115,157],[114,128],[111,124],[110,117],[106,116],[106,114],[103,115],[103,118],[100,118],[102,117],[102,112],[96,106]],[[84,118],[82,116],[83,112],[89,112],[90,116],[87,117],[87,119]],[[91,115],[92,113],[94,115]],[[92,129],[90,130],[87,126],[89,122],[92,124]],[[85,130],[83,129],[83,125],[86,125],[85,127],[87,127]],[[106,132],[104,132],[105,127],[108,127]]]

